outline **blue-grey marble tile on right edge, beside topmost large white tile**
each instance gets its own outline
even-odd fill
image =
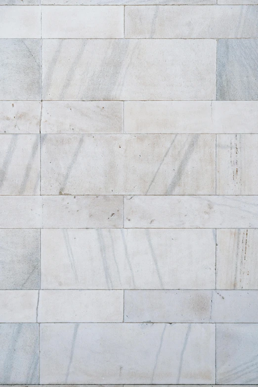
[[[219,40],[216,99],[258,100],[257,61],[257,39]]]

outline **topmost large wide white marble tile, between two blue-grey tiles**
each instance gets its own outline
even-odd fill
[[[215,99],[215,56],[214,40],[45,40],[43,99]]]

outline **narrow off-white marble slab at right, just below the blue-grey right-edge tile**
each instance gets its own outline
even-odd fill
[[[126,133],[257,133],[257,101],[126,101]]]

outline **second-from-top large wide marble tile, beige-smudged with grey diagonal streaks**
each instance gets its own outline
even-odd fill
[[[51,134],[41,165],[43,195],[214,194],[215,135]]]

